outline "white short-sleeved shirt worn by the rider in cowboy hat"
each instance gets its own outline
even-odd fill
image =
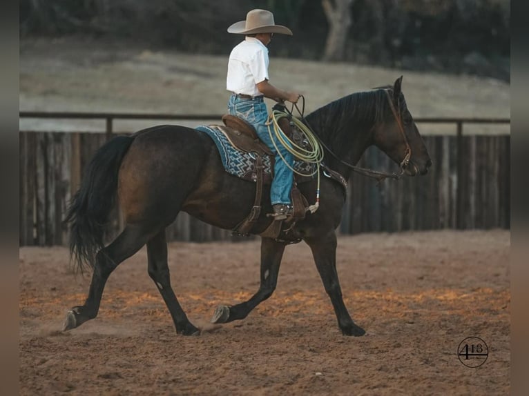
[[[268,48],[255,37],[246,37],[229,55],[226,89],[236,94],[262,96],[257,84],[268,79]]]

